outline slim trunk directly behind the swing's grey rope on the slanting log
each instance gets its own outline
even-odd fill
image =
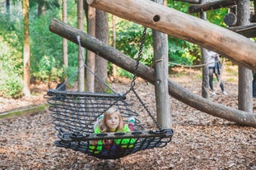
[[[78,30],[84,29],[84,16],[83,16],[83,0],[77,2],[77,28]],[[78,47],[78,91],[85,90],[85,67],[84,66],[84,48]],[[80,69],[81,68],[81,69]]]

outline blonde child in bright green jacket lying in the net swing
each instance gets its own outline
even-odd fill
[[[103,115],[98,117],[95,122],[95,133],[106,132],[129,132],[133,131],[135,119],[130,117],[128,123],[123,123],[123,119],[118,108],[109,108]],[[134,139],[116,139],[116,140],[91,140],[89,149],[94,154],[100,152],[108,153],[118,151],[118,148],[133,148]]]

